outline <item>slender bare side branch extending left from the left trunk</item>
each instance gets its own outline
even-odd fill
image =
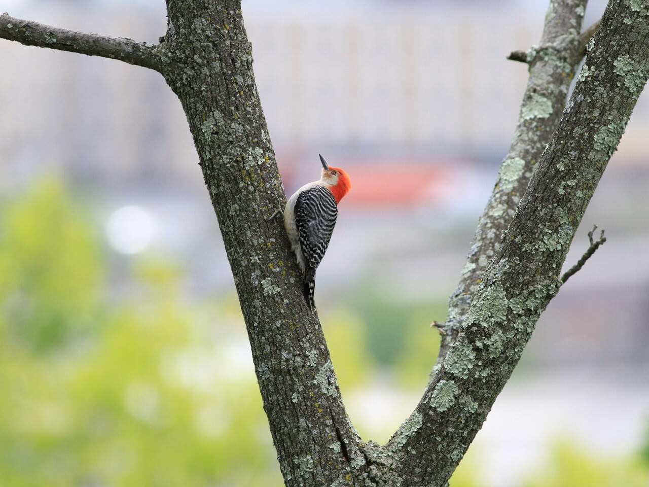
[[[86,32],[67,31],[51,25],[0,15],[0,38],[25,45],[49,47],[58,51],[119,59],[129,64],[159,70],[157,45],[128,38],[99,36]]]

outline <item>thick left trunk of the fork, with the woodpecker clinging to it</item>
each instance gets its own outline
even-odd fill
[[[252,71],[241,2],[167,0],[162,73],[199,153],[288,487],[363,485],[354,431],[281,218],[286,195]],[[314,174],[320,171],[313,160]]]

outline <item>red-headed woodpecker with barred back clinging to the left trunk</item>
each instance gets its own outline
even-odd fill
[[[343,169],[331,168],[320,156],[323,172],[320,181],[305,184],[293,194],[284,208],[284,227],[304,273],[304,298],[313,307],[315,269],[323,259],[336,225],[338,203],[352,183]]]

